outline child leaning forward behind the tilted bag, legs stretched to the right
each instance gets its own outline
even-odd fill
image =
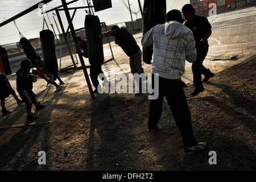
[[[36,68],[36,71],[38,71],[38,76],[43,78],[44,80],[47,81],[47,85],[49,84],[53,84],[54,86],[56,86],[56,90],[55,92],[60,90],[60,86],[56,84],[56,82],[54,80],[49,80],[49,78],[51,78],[51,75],[49,75],[48,73],[46,73],[45,69],[44,69],[44,61],[41,59],[41,57],[39,55],[35,55],[34,60],[39,63],[41,66]],[[46,76],[48,76],[48,78]],[[60,79],[59,76],[56,76],[56,78],[60,81],[60,85],[63,85],[64,82]]]

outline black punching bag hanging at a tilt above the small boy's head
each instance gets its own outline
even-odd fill
[[[25,53],[25,55],[27,56],[27,59],[31,60],[32,62],[32,66],[34,68],[39,67],[40,64],[36,63],[35,59],[35,55],[39,55],[38,52],[36,52],[35,48],[31,45],[31,43],[28,41],[28,39],[26,38],[21,38],[19,40],[20,45],[23,48],[23,51]]]

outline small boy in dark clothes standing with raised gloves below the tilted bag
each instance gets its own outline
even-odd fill
[[[36,110],[45,107],[41,105],[40,102],[36,101],[36,94],[32,92],[33,81],[30,73],[31,67],[31,61],[26,59],[20,63],[20,68],[16,71],[16,89],[22,101],[26,104],[27,121],[37,118],[31,113],[32,104],[35,105]]]

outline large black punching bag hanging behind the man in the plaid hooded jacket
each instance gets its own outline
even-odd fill
[[[166,0],[144,0],[143,5],[143,35],[156,24],[166,22]],[[153,46],[143,47],[143,61],[150,64]]]

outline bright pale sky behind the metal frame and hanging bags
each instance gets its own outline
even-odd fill
[[[29,7],[35,5],[36,3],[40,2],[41,0],[0,0],[0,22],[4,22],[5,20],[21,13],[22,11],[28,9]],[[72,0],[66,0],[66,2],[71,2]],[[141,6],[143,9],[144,0],[129,0],[131,11],[137,12],[137,17],[141,18],[141,12],[139,11],[139,3],[141,2]],[[91,4],[93,5],[93,0],[90,0]],[[189,0],[166,0],[167,4],[167,12],[172,9],[181,10],[181,7],[189,3]],[[131,16],[129,10],[126,8],[128,6],[128,0],[112,0],[112,8],[94,12],[94,15],[98,15],[98,18],[101,22],[105,22],[107,25],[121,23],[121,22],[130,22]],[[45,10],[53,9],[57,6],[62,5],[60,0],[53,0],[46,5],[44,5]],[[68,7],[81,7],[87,6],[87,0],[79,0]],[[86,9],[88,10],[88,9]],[[93,10],[94,11],[94,10]],[[19,31],[22,33],[24,37],[27,39],[31,38],[38,38],[39,32],[43,30],[43,16],[40,15],[41,9],[38,8],[31,13],[28,13],[18,19],[15,20],[16,26],[19,28]],[[53,28],[55,29],[56,34],[58,34],[56,24],[53,19],[52,11],[48,14],[45,14],[47,24],[49,29],[52,30],[50,24],[53,24]],[[70,10],[70,14],[72,16],[73,10]],[[76,11],[75,18],[73,19],[73,25],[75,29],[84,27],[84,20],[85,20],[85,9],[78,9]],[[60,11],[60,16],[63,21],[65,29],[68,27],[68,22],[64,11]],[[133,20],[136,19],[136,15],[132,14]],[[49,17],[49,18],[48,18]],[[59,26],[59,21],[57,16],[55,16],[55,20],[57,22],[57,26]],[[50,23],[51,22],[51,23]],[[44,29],[46,29],[46,24],[44,24]],[[59,26],[59,30],[60,26]],[[0,27],[0,44],[9,44],[19,42],[20,35],[15,27],[14,22],[6,24],[5,26]]]

